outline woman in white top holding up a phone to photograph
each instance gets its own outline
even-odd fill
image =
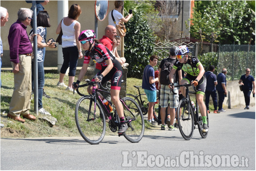
[[[118,25],[119,22],[127,23],[129,21],[129,19],[131,19],[133,14],[129,14],[125,17],[123,17],[123,15],[121,14],[121,12],[123,11],[123,5],[124,5],[123,0],[116,0],[114,2],[115,8],[113,10],[113,16],[114,16],[114,20],[116,21],[116,24],[114,24],[114,21],[111,16],[112,11],[110,11],[108,14],[108,25],[112,25],[112,26],[116,27],[116,25]]]

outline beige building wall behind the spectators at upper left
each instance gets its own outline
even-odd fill
[[[52,25],[50,28],[47,29],[47,38],[56,38],[56,29],[58,27],[58,1],[51,0],[46,6],[44,6],[45,10],[49,13],[50,16],[50,24]],[[94,30],[94,16],[95,16],[95,1],[93,0],[81,0],[81,1],[73,1],[69,0],[69,8],[72,4],[79,4],[82,10],[82,14],[80,15],[78,21],[81,24],[81,31],[92,29]],[[1,0],[1,6],[6,8],[9,13],[10,20],[6,23],[4,27],[1,28],[1,38],[3,42],[3,57],[2,57],[2,67],[11,67],[10,63],[10,51],[9,51],[9,44],[8,44],[8,33],[10,26],[17,21],[17,12],[19,8],[31,8],[32,4],[28,4],[25,0],[22,1],[10,1],[10,0]],[[114,1],[109,1],[109,8],[108,13],[114,9]],[[67,14],[68,15],[68,14]],[[108,25],[108,16],[104,21],[98,21],[98,38],[100,39],[104,35],[105,27]],[[27,33],[29,33],[31,27],[27,28]],[[58,44],[58,43],[57,43]],[[83,60],[78,60],[78,66],[83,65]],[[50,49],[46,48],[46,56],[44,66],[57,66],[57,48]]]

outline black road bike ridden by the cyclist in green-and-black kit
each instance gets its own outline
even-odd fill
[[[203,130],[203,119],[201,113],[199,113],[199,107],[196,100],[195,107],[191,104],[191,100],[189,94],[196,94],[196,87],[193,85],[194,91],[189,91],[188,87],[192,86],[191,84],[183,84],[183,85],[175,85],[174,87],[185,87],[186,88],[186,95],[179,101],[177,107],[177,119],[179,124],[179,131],[185,140],[190,140],[193,136],[194,129],[196,129],[196,125],[198,126],[198,130],[202,138],[206,138],[208,132],[202,133]],[[173,89],[172,89],[173,91]],[[173,92],[174,93],[174,92]],[[179,117],[178,117],[179,116]],[[207,125],[209,126],[209,117],[206,109],[206,120]]]

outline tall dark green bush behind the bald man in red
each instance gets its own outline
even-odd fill
[[[124,53],[129,63],[127,77],[142,79],[143,70],[153,55],[155,37],[142,12],[133,13],[126,27]]]

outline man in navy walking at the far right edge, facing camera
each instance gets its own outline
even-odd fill
[[[244,93],[244,99],[246,101],[246,107],[244,109],[250,109],[250,95],[251,92],[252,94],[255,94],[255,81],[254,77],[250,75],[250,68],[246,68],[246,74],[242,75],[239,84],[242,85],[242,90]],[[253,91],[252,91],[252,86],[253,86]]]

